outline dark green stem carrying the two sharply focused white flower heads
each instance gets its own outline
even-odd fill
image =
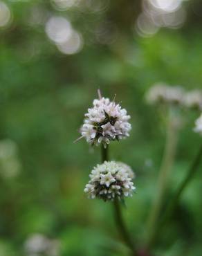
[[[109,146],[104,148],[104,146],[102,145],[102,163],[104,161],[109,161]],[[118,231],[120,232],[122,239],[125,241],[125,244],[127,244],[127,246],[129,246],[129,248],[131,249],[133,253],[132,255],[136,256],[136,248],[129,235],[129,232],[127,231],[125,222],[122,217],[120,201],[117,198],[113,201],[113,210]]]

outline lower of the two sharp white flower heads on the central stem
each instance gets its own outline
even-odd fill
[[[124,196],[132,196],[134,183],[134,173],[131,167],[125,163],[107,162],[97,165],[89,175],[91,180],[86,185],[84,192],[89,194],[89,198],[95,197],[104,201],[122,199]]]

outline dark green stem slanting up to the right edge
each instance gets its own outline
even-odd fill
[[[199,148],[199,152],[198,152],[198,154],[196,154],[196,158],[194,158],[194,161],[192,162],[192,165],[190,166],[190,169],[188,170],[187,175],[185,176],[185,179],[182,181],[181,185],[179,185],[172,200],[169,201],[167,208],[165,209],[165,213],[163,214],[162,219],[160,219],[160,221],[158,222],[158,228],[156,229],[156,235],[158,234],[159,229],[166,223],[166,221],[170,217],[172,217],[172,214],[174,213],[174,211],[176,210],[176,207],[178,205],[178,201],[181,197],[181,194],[183,194],[183,191],[185,190],[185,188],[187,188],[187,185],[190,183],[190,181],[192,181],[192,178],[201,163],[201,158],[202,158],[202,145]]]

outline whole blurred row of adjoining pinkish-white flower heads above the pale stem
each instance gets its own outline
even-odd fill
[[[179,104],[188,109],[202,109],[202,92],[200,90],[184,91],[181,86],[169,86],[157,83],[146,93],[149,104]]]

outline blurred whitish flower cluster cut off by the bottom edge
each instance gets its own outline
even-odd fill
[[[24,244],[26,256],[59,256],[59,241],[42,234],[33,234]]]

